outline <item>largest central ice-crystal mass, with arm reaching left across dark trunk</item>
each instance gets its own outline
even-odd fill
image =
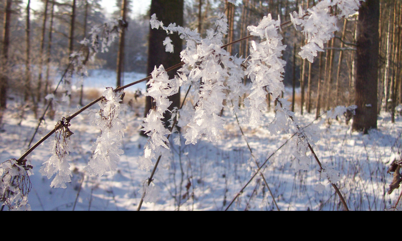
[[[195,108],[185,107],[191,110],[191,116],[180,113],[178,123],[179,126],[187,126],[184,135],[186,144],[197,143],[203,135],[210,141],[218,140],[224,127],[224,120],[218,115],[224,99],[237,106],[239,96],[245,92],[242,85],[244,72],[240,67],[243,59],[230,56],[228,51],[221,48],[228,31],[227,22],[226,16],[219,14],[215,21],[216,29],[207,30],[207,37],[201,39],[195,31],[176,27],[175,24],[163,27],[155,15],[151,18],[151,27],[162,27],[169,34],[177,32],[187,41],[186,49],[180,53],[185,64],[178,70],[180,86],[191,84],[195,90]]]

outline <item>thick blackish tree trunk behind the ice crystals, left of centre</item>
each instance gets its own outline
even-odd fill
[[[168,25],[171,22],[175,22],[176,25],[183,26],[183,0],[152,0],[150,16],[156,14],[158,20],[162,21],[164,25]],[[147,73],[150,74],[154,71],[154,67],[159,67],[161,64],[165,67],[171,67],[177,63],[180,63],[180,51],[182,51],[182,41],[178,34],[169,35],[174,45],[174,52],[167,53],[165,51],[165,46],[163,41],[168,35],[166,31],[162,29],[150,29],[149,35],[149,49],[148,49],[148,70]],[[174,78],[174,71],[170,71],[169,78]],[[149,86],[147,86],[148,88]],[[174,107],[180,107],[180,92],[170,96],[170,101],[172,104],[169,109],[172,110]],[[146,97],[145,103],[145,114],[147,116],[148,112],[152,108],[152,98],[150,96]],[[170,112],[166,112],[164,119],[165,123],[170,119]],[[144,133],[142,133],[144,134]]]

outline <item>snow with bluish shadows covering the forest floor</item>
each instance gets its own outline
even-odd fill
[[[91,93],[91,90],[86,90]],[[92,90],[92,92],[96,92]],[[100,94],[102,90],[98,90]],[[92,93],[93,94],[93,93]],[[126,94],[129,102],[132,94]],[[90,99],[86,100],[87,102]],[[71,106],[77,106],[73,96]],[[92,143],[99,130],[89,124],[90,111],[85,111],[71,121],[70,170],[72,182],[67,188],[50,188],[51,180],[41,176],[39,169],[51,153],[50,137],[28,157],[33,170],[30,174],[32,190],[29,203],[32,210],[136,210],[142,196],[144,182],[150,172],[137,169],[137,159],[143,155],[147,139],[139,135],[142,123],[144,97],[126,105],[120,118],[126,125],[123,138],[124,154],[117,172],[102,177],[89,176],[84,167],[90,159]],[[96,105],[97,106],[97,105]],[[96,108],[96,106],[94,108]],[[56,116],[66,112],[59,106]],[[77,107],[70,111],[77,110]],[[313,114],[300,116],[308,125]],[[153,194],[146,197],[141,210],[224,210],[234,196],[250,180],[256,170],[245,138],[256,156],[263,163],[293,134],[273,136],[267,125],[273,120],[273,112],[267,112],[262,127],[253,129],[242,125],[243,137],[236,119],[224,111],[226,130],[220,141],[211,143],[201,139],[196,145],[173,145],[162,155],[154,176]],[[242,123],[242,116],[239,116]],[[315,152],[322,163],[332,165],[340,173],[337,182],[350,210],[384,210],[397,200],[400,189],[387,194],[392,176],[387,174],[390,163],[400,159],[402,150],[402,117],[392,124],[390,115],[383,113],[378,119],[378,130],[368,135],[353,132],[344,120],[316,120],[320,141]],[[54,128],[57,120],[46,119],[35,141]],[[19,158],[26,150],[37,120],[32,112],[21,110],[17,102],[10,102],[0,126],[0,160]],[[318,165],[314,159],[308,171],[295,172],[291,165],[296,138],[291,138],[263,167],[263,176],[280,210],[343,210],[334,189],[326,180],[319,180]],[[322,194],[314,190],[321,182],[326,186]],[[270,192],[257,175],[229,210],[277,210]]]

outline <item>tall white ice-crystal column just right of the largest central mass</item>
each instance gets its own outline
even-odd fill
[[[257,27],[248,27],[250,35],[261,39],[260,43],[251,41],[250,59],[245,72],[252,82],[251,93],[244,101],[249,125],[260,125],[267,94],[277,98],[285,90],[282,80],[286,62],[281,57],[286,45],[282,45],[282,36],[278,33],[280,25],[280,20],[273,20],[268,14]]]

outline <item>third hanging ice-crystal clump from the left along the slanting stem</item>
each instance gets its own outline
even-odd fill
[[[119,118],[123,109],[122,95],[120,91],[115,92],[113,88],[107,88],[103,92],[102,102],[99,103],[100,111],[94,112],[92,116],[92,124],[98,126],[101,134],[92,146],[94,153],[85,167],[89,174],[102,176],[106,172],[114,172],[120,155],[124,153],[119,148],[125,129],[125,125]]]

